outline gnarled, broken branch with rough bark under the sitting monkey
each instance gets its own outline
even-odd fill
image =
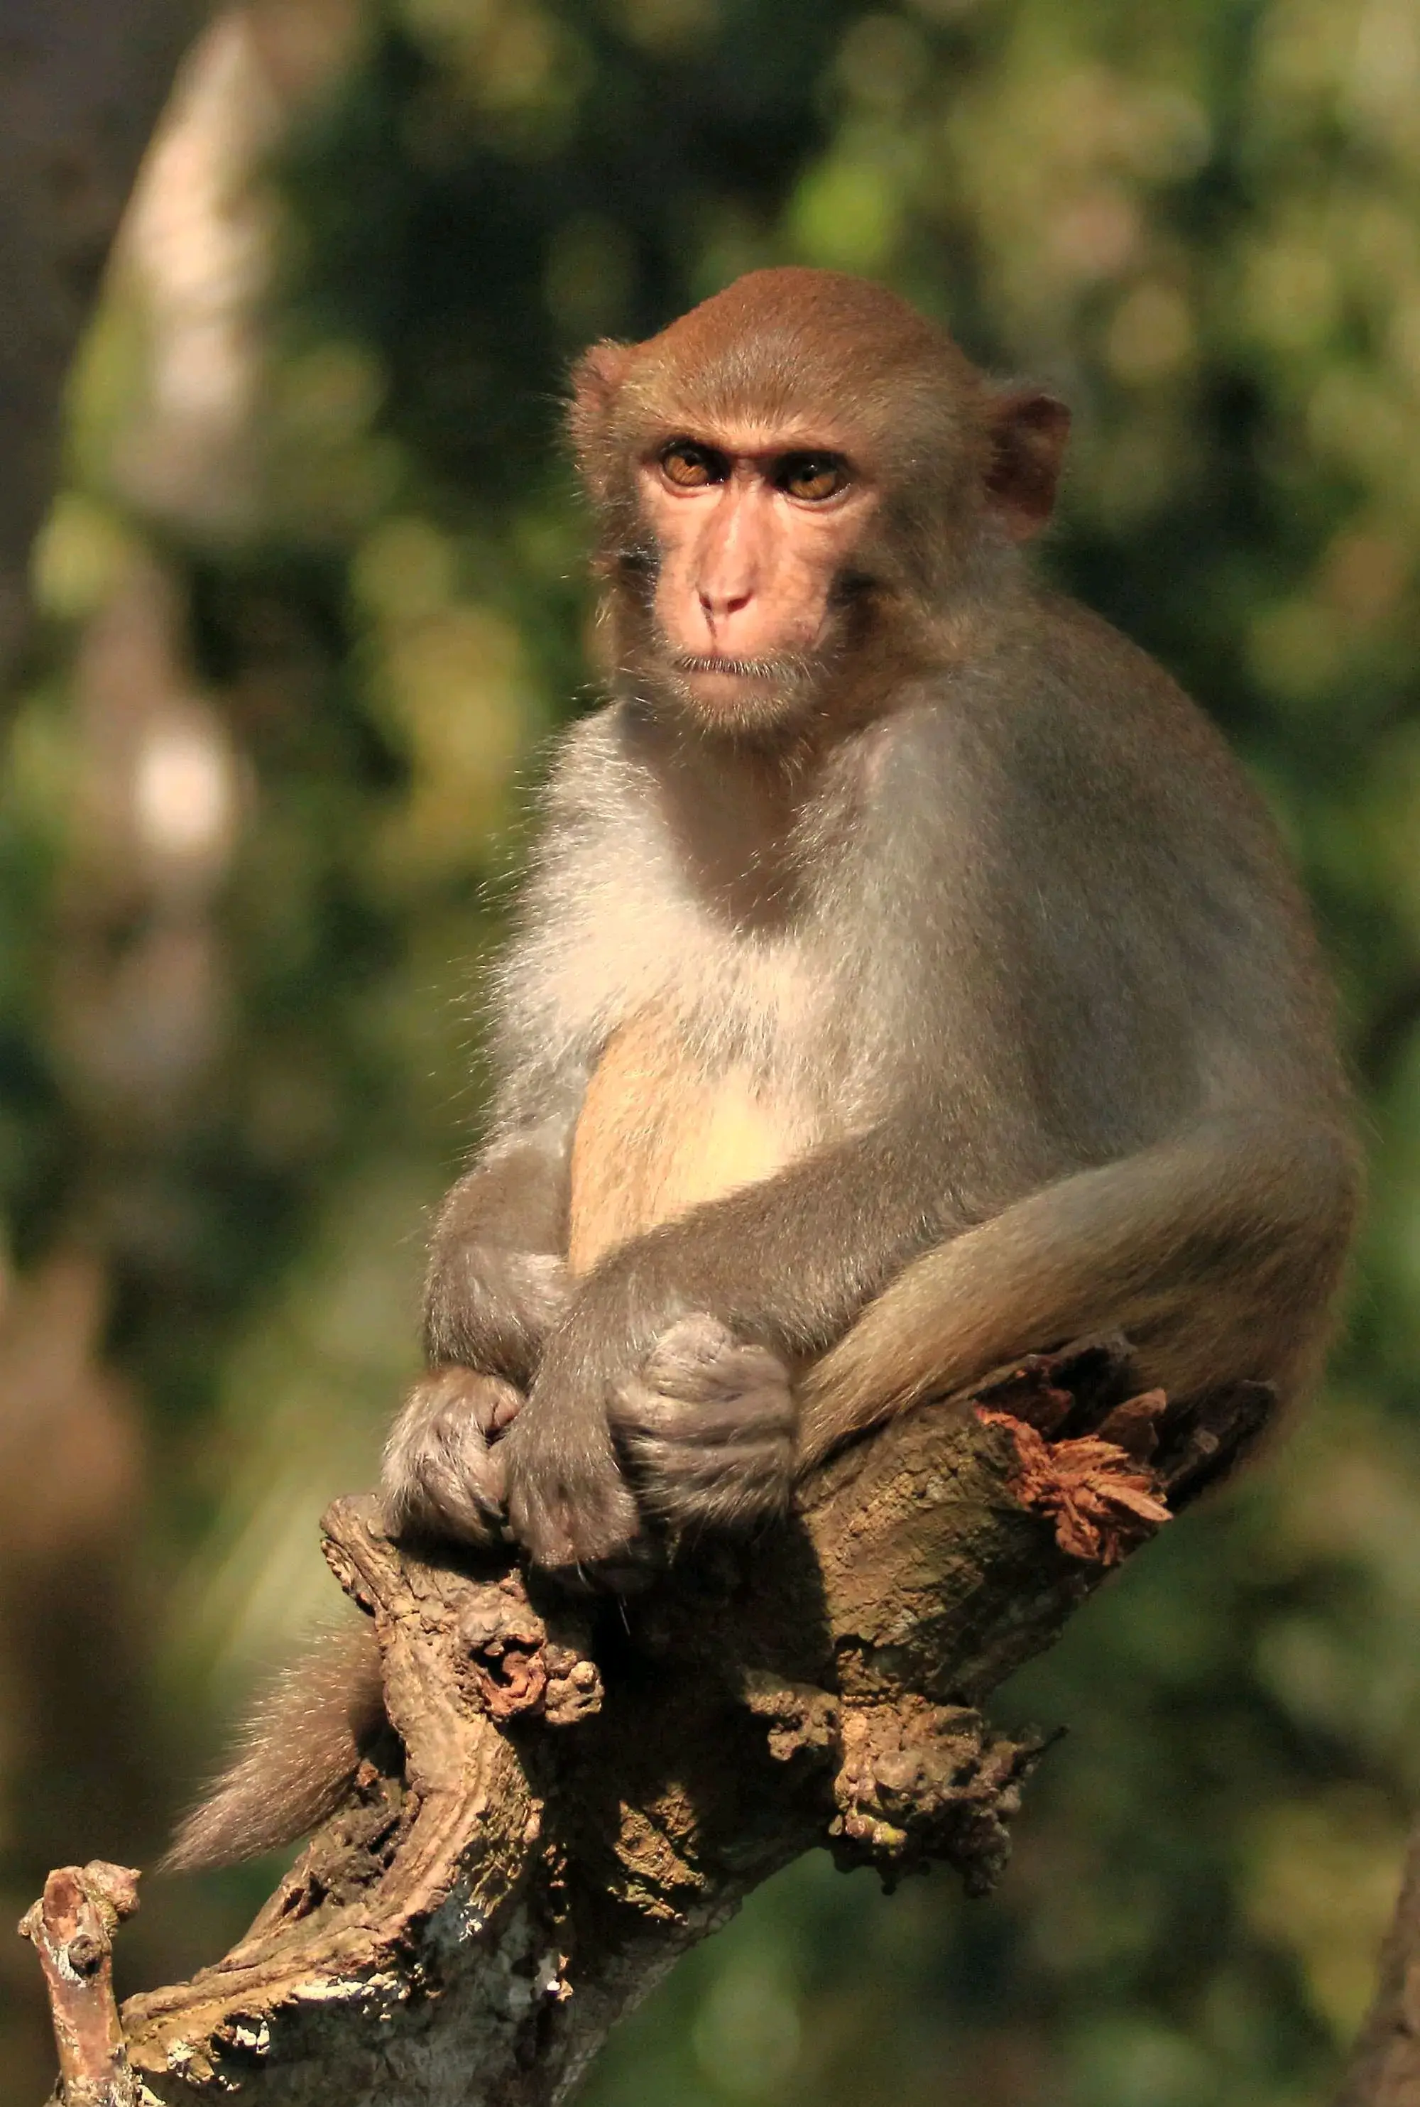
[[[948,1860],[990,1888],[1043,1742],[997,1734],[984,1696],[1268,1401],[1171,1414],[1136,1389],[1119,1340],[1032,1357],[626,1603],[415,1557],[371,1500],[337,1502],[327,1555],[375,1618],[402,1749],[362,1768],[223,1962],[129,2000],[133,2099],[552,2107],[803,1850],[889,1886]]]

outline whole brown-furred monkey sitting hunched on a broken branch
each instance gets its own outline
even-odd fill
[[[617,1584],[1030,1348],[1121,1327],[1178,1403],[1313,1370],[1329,995],[1222,740],[1030,575],[1066,428],[832,272],[581,358],[609,702],[497,976],[398,1528]],[[185,1863],[270,1842],[240,1776]]]

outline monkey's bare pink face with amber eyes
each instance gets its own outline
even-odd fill
[[[798,716],[832,657],[872,478],[807,430],[710,426],[657,440],[636,497],[655,548],[655,672],[706,725]]]

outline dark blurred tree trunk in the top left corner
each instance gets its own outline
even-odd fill
[[[0,693],[25,636],[29,544],[59,398],[200,0],[4,0],[0,23]]]

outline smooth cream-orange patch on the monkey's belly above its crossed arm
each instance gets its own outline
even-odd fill
[[[748,1066],[706,1075],[655,1011],[611,1039],[571,1153],[569,1264],[596,1260],[676,1216],[771,1178],[811,1142],[807,1121]]]

